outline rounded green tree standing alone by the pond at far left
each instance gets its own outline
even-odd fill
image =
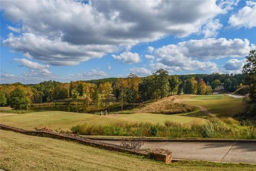
[[[10,105],[15,110],[28,109],[29,99],[23,89],[17,88],[11,92]]]

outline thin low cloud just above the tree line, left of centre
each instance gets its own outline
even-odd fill
[[[100,79],[100,78],[106,78],[108,74],[104,71],[101,70],[96,70],[92,69],[91,71],[88,72],[82,72],[79,74],[69,74],[68,78],[74,79],[74,78],[79,78],[79,79]]]

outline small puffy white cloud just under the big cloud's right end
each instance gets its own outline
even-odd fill
[[[215,37],[219,34],[218,30],[223,25],[220,23],[219,19],[211,19],[208,22],[206,22],[205,26],[202,28],[202,33],[204,34],[205,38],[208,37]]]

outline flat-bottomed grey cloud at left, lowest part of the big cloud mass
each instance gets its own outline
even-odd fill
[[[116,50],[111,45],[72,45],[62,42],[61,38],[48,39],[45,36],[28,33],[19,37],[11,33],[3,40],[3,44],[16,51],[26,52],[26,56],[57,66],[76,65],[91,58],[101,58],[106,53]]]

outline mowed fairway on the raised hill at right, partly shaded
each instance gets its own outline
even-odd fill
[[[206,107],[210,112],[220,116],[233,116],[245,108],[243,98],[234,98],[228,95],[179,95],[175,96],[179,102],[196,104]]]

